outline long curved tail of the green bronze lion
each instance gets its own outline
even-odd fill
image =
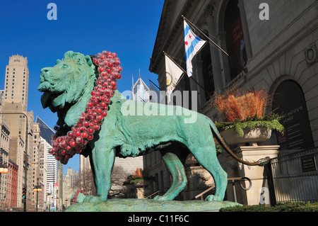
[[[214,137],[216,137],[216,140],[218,141],[218,143],[228,152],[228,154],[230,154],[231,157],[233,157],[237,161],[242,162],[242,164],[246,164],[248,166],[264,166],[265,164],[269,162],[269,158],[262,158],[262,159],[259,159],[257,162],[247,162],[240,159],[239,157],[237,157],[236,154],[234,154],[234,152],[232,152],[230,147],[228,147],[228,145],[225,144],[223,137],[220,135],[220,132],[218,132],[216,125],[214,125],[214,123],[211,120],[210,120],[210,126],[211,126],[212,133]]]

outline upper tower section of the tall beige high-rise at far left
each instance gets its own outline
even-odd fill
[[[28,60],[20,55],[9,57],[4,79],[4,101],[21,102],[23,111],[28,108]]]

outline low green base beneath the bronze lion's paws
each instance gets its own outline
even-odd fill
[[[203,212],[216,211],[239,203],[230,201],[158,201],[153,199],[114,198],[99,203],[75,203],[66,212]]]

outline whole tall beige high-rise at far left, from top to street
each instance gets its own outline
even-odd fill
[[[1,91],[1,101],[3,101],[1,114],[8,122],[10,130],[9,159],[18,165],[18,197],[22,196],[22,188],[27,188],[26,204],[23,204],[21,198],[18,198],[17,207],[20,208],[24,205],[25,208],[30,209],[32,197],[30,167],[32,166],[34,118],[32,111],[27,112],[28,77],[27,58],[20,55],[9,57],[4,77],[4,91]],[[24,159],[28,159],[28,162],[25,162]]]

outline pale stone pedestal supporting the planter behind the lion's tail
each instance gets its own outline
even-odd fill
[[[241,146],[233,150],[233,152],[247,162],[255,162],[261,158],[275,158],[278,156],[278,145],[264,146]],[[223,154],[220,159],[220,164],[228,173],[228,178],[232,177],[247,177],[252,181],[252,188],[248,191],[243,190],[238,183],[235,183],[235,194],[237,203],[245,205],[270,204],[268,176],[269,172],[264,166],[247,166],[230,157],[228,154]],[[229,181],[230,182],[230,181]],[[249,182],[242,182],[243,187],[247,188]],[[233,186],[229,183],[226,195],[228,200],[235,201]]]

